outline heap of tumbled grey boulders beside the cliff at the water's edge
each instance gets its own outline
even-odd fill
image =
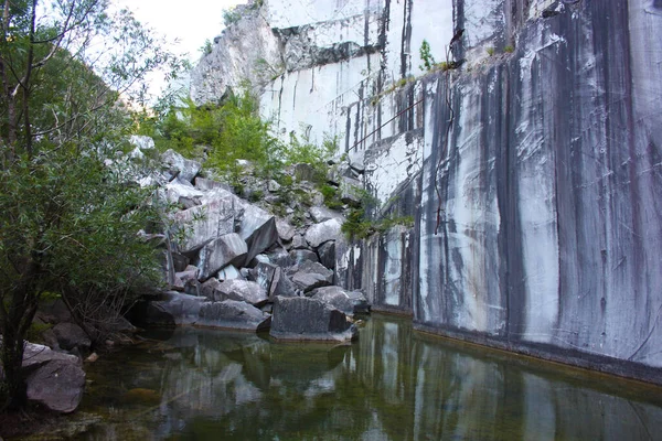
[[[138,150],[148,144],[135,143]],[[161,197],[179,209],[163,237],[171,289],[147,305],[147,324],[271,327],[274,336],[289,340],[356,336],[349,318],[367,312],[367,302],[362,293],[333,284],[344,217],[325,207],[321,193],[306,181],[312,173],[308,165],[292,168],[289,189],[247,172],[242,195],[254,201],[248,202],[227,184],[201,176],[200,163],[172,150],[161,162],[161,170],[142,182],[158,183]],[[338,179],[343,185],[352,180]],[[286,192],[305,194],[306,203],[284,202]],[[350,202],[353,193],[345,193]]]

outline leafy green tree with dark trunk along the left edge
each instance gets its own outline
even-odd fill
[[[143,75],[177,60],[108,0],[0,8],[0,362],[6,407],[20,408],[24,336],[44,292],[94,337],[99,311],[156,280],[137,235],[156,222],[149,191],[105,161],[131,126],[118,98],[143,99]]]

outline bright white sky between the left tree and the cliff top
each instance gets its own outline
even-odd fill
[[[154,29],[168,40],[179,40],[172,47],[175,53],[189,53],[197,62],[200,47],[205,40],[214,40],[223,30],[223,10],[246,0],[111,0],[119,8],[128,8],[143,24]],[[162,74],[150,77],[150,90],[164,86]]]

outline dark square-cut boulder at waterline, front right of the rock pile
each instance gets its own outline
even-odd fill
[[[357,331],[342,311],[318,299],[277,297],[269,334],[277,340],[346,342]]]

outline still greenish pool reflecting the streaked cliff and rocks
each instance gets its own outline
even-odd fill
[[[82,439],[645,440],[658,388],[590,376],[374,316],[352,345],[178,329],[100,359]]]

